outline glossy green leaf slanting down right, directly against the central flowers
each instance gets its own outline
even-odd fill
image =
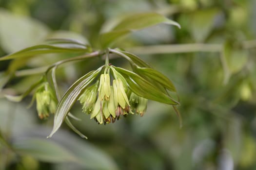
[[[170,105],[179,104],[179,102],[175,101],[170,96],[162,93],[156,85],[148,82],[138,74],[123,68],[115,67],[115,69],[124,76],[131,91],[138,96]]]

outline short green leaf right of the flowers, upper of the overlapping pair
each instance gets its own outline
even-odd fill
[[[165,75],[160,73],[159,71],[152,69],[152,68],[135,68],[135,72],[138,73],[141,77],[145,79],[152,80],[154,82],[159,83],[164,88],[177,92],[175,86],[173,85],[173,82],[168,79]]]

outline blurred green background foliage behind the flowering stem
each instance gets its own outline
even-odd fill
[[[168,76],[180,96],[183,127],[171,106],[149,102],[143,117],[98,125],[75,105],[72,121],[46,139],[53,117],[39,120],[27,97],[0,99],[1,170],[255,170],[256,0],[0,0],[0,56],[47,37],[75,38],[98,48],[98,33],[130,13],[155,11],[181,29],[157,25],[114,45]],[[71,55],[0,62],[3,92],[20,94],[39,79],[27,68]],[[123,59],[111,60],[128,67]],[[102,65],[100,58],[58,70],[62,91]],[[36,70],[35,70],[36,71]],[[24,72],[23,72],[24,73]],[[15,78],[5,85],[8,75]]]

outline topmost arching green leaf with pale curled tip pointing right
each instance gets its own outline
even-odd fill
[[[160,23],[175,25],[180,28],[180,25],[157,13],[141,13],[134,14],[122,19],[112,30],[101,34],[101,44],[105,48],[119,37],[129,34],[133,31],[141,30]]]

